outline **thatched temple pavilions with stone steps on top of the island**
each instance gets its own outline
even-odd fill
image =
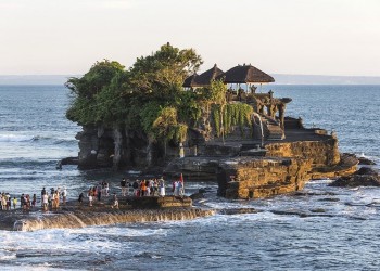
[[[229,104],[245,103],[256,113],[253,116],[254,131],[252,139],[256,140],[283,140],[286,108],[292,100],[290,98],[274,98],[274,92],[257,93],[263,83],[274,82],[275,79],[252,65],[238,65],[226,73],[217,67],[204,72],[201,75],[193,74],[188,77],[182,87],[188,91],[198,88],[208,88],[213,80],[223,80],[227,85],[226,101]]]

